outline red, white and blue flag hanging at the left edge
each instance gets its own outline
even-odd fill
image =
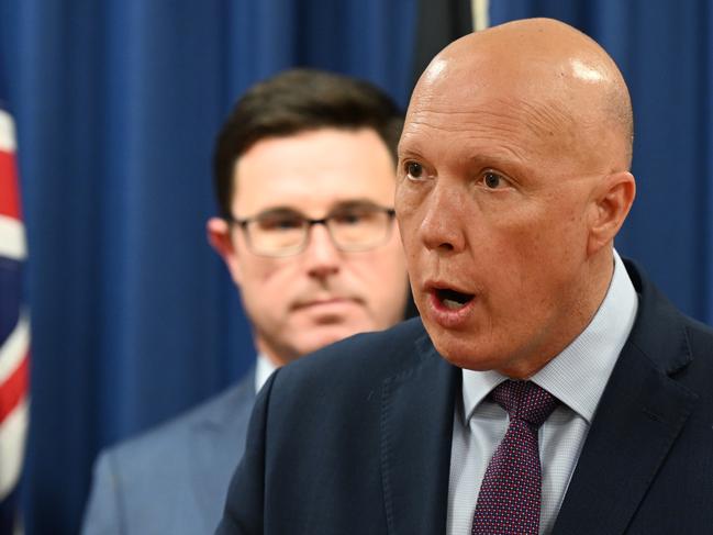
[[[16,168],[14,123],[0,101],[0,535],[22,533],[18,483],[30,403],[26,247]]]

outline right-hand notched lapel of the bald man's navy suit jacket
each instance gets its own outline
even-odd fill
[[[695,394],[671,377],[690,361],[675,309],[636,270],[638,319],[602,394],[554,534],[620,534],[676,442]]]

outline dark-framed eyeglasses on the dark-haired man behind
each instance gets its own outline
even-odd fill
[[[394,215],[393,209],[358,203],[338,207],[317,220],[287,208],[267,210],[252,218],[229,216],[226,220],[243,229],[247,247],[254,254],[281,257],[302,253],[313,225],[324,225],[332,243],[342,252],[372,249],[391,236]]]

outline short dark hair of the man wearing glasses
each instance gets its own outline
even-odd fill
[[[315,69],[291,69],[253,86],[221,129],[213,180],[221,215],[230,215],[235,161],[266,137],[322,127],[374,129],[396,161],[403,113],[368,81]]]

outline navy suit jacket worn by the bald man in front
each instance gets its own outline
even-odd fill
[[[627,270],[637,317],[553,533],[713,533],[713,331]],[[445,533],[459,395],[460,370],[419,319],[282,368],[216,533]]]

